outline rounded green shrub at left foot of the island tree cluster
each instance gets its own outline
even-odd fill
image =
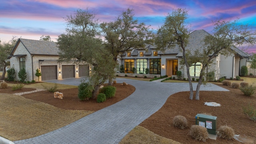
[[[78,85],[78,98],[80,100],[89,100],[92,97],[93,86],[88,82],[81,82]]]

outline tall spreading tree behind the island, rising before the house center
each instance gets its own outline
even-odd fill
[[[152,30],[144,23],[134,19],[132,9],[122,12],[114,22],[103,22],[100,24],[105,42],[105,48],[114,56],[117,64],[118,55],[133,48],[145,48],[147,44],[153,43]],[[109,79],[109,85],[112,78]]]

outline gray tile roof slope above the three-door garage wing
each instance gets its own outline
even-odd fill
[[[29,40],[24,38],[20,38],[19,40],[24,44],[30,54],[59,55],[59,49],[56,42]]]

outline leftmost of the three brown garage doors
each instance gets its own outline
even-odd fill
[[[41,78],[45,80],[57,80],[57,66],[41,66]]]

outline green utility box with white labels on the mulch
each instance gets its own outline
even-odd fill
[[[216,135],[217,116],[208,116],[205,114],[196,115],[196,125],[207,128],[209,134]]]

